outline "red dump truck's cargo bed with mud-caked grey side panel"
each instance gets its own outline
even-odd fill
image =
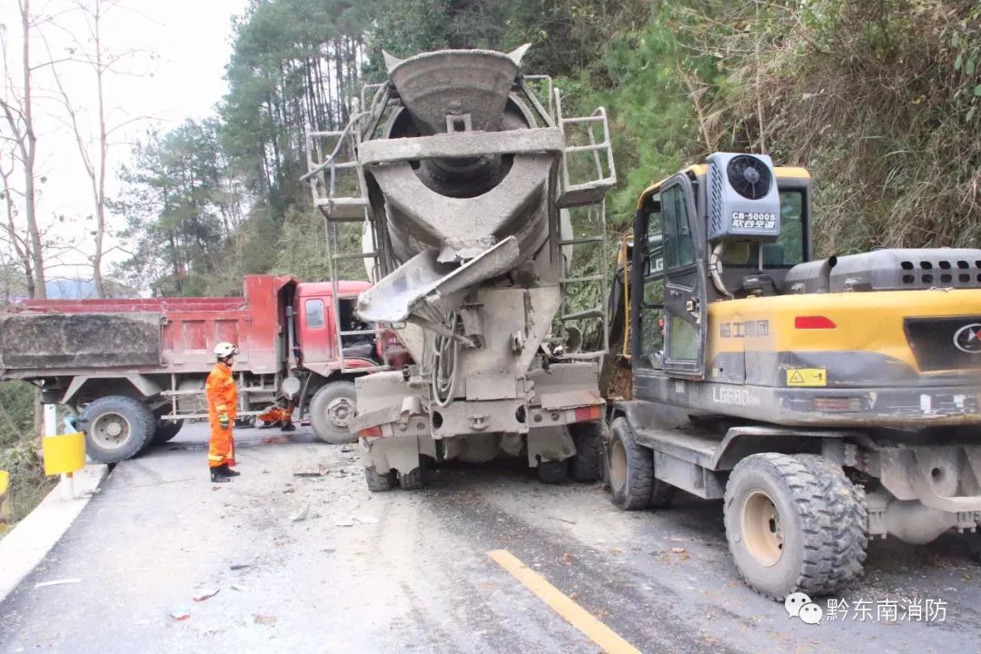
[[[0,313],[0,375],[204,372],[220,341],[238,344],[236,370],[272,374],[291,283],[248,277],[245,297],[31,300]]]

